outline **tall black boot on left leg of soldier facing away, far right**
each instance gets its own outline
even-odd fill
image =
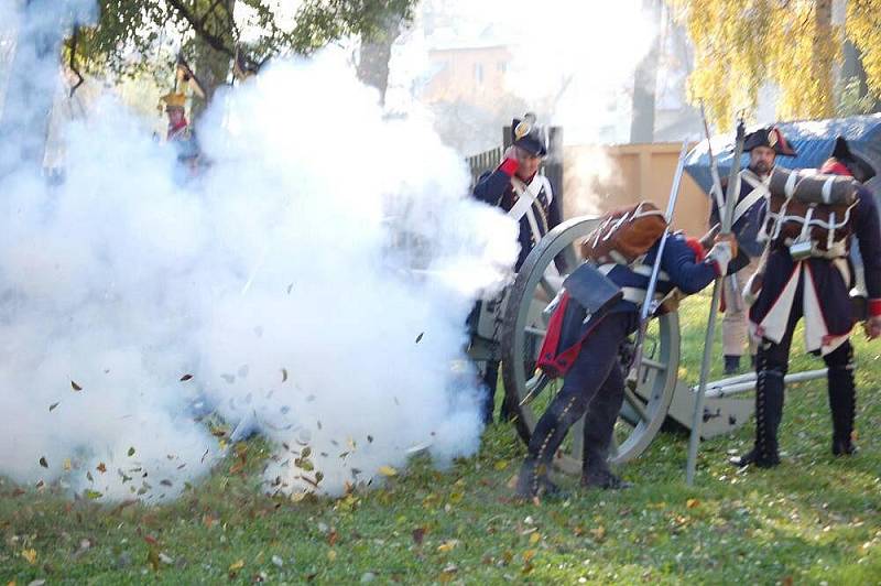
[[[777,428],[783,417],[783,377],[779,369],[759,370],[755,387],[755,444],[742,456],[731,458],[735,466],[754,464],[759,468],[772,468],[780,464]]]

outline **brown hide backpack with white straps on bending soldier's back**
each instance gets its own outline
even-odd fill
[[[581,242],[581,257],[598,264],[632,264],[666,228],[664,214],[651,202],[609,211]]]

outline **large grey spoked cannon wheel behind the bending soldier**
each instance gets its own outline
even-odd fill
[[[575,246],[598,224],[598,218],[567,220],[548,232],[530,252],[511,286],[501,329],[502,380],[508,401],[514,405],[514,424],[529,443],[532,430],[562,388],[562,379],[548,379],[535,371],[546,333],[548,315],[543,311],[563,282],[554,259],[562,256],[566,271],[581,261]],[[643,368],[635,389],[626,390],[616,423],[609,462],[622,464],[639,456],[652,442],[666,417],[679,365],[679,324],[675,313],[654,319],[646,336]],[[521,401],[536,392],[529,404]],[[580,471],[584,420],[573,426],[556,465],[566,473]]]

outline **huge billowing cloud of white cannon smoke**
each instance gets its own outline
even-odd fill
[[[195,399],[274,441],[271,490],[472,453],[453,365],[516,245],[460,159],[330,56],[221,93],[197,131],[186,177],[106,98],[65,130],[59,185],[0,177],[0,474],[174,497],[222,455]]]

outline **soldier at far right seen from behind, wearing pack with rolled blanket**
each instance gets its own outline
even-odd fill
[[[831,452],[856,451],[855,324],[849,291],[852,236],[859,240],[866,273],[866,334],[881,335],[881,232],[875,200],[862,186],[875,170],[839,137],[822,175],[775,170],[764,224],[766,259],[748,284],[750,328],[761,339],[757,357],[755,443],[731,463],[770,468],[780,464],[777,428],[783,416],[783,390],[790,345],[798,321],[805,322],[805,349],[828,368],[833,420]]]

